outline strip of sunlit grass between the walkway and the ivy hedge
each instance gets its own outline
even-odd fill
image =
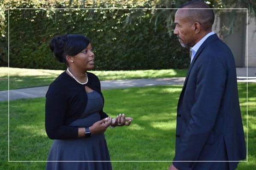
[[[0,67],[0,91],[8,90],[8,67]],[[186,77],[186,69],[137,70],[137,71],[91,71],[100,80],[148,79],[164,77]],[[63,70],[9,68],[10,89],[49,85]]]

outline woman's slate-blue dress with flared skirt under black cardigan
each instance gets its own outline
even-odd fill
[[[84,113],[69,126],[89,127],[100,120],[103,99],[96,91],[87,93]],[[57,140],[52,143],[46,170],[112,170],[104,133],[89,138]]]

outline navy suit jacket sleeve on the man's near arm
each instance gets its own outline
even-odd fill
[[[216,57],[204,56],[198,66],[195,89],[195,103],[191,109],[191,119],[180,147],[176,148],[174,161],[196,161],[212,130],[224,93],[227,71]],[[193,164],[193,163],[192,163]],[[191,167],[191,162],[173,162],[180,170]]]

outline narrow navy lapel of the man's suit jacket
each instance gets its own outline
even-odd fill
[[[199,54],[201,54],[201,52],[203,51],[204,47],[206,47],[206,46],[209,44],[209,42],[211,42],[211,41],[213,41],[213,40],[216,40],[216,39],[218,39],[217,34],[213,34],[213,35],[209,36],[209,37],[203,42],[203,44],[200,46],[200,48],[198,49],[198,51],[195,53],[195,57],[193,58],[191,64],[189,65],[189,70],[188,70],[188,72],[187,72],[187,74],[186,74],[186,79],[185,79],[185,82],[184,82],[184,84],[183,84],[182,91],[181,91],[181,93],[180,93],[180,98],[181,98],[181,96],[183,95],[183,93],[184,93],[184,91],[185,91],[186,83],[187,83],[187,81],[188,81],[190,71],[191,71],[191,69],[192,69],[192,67],[193,67],[193,65],[194,65],[194,63],[195,63],[195,61],[196,61],[196,59],[198,58]],[[180,103],[180,98],[179,98],[178,105],[179,105],[179,103]]]

